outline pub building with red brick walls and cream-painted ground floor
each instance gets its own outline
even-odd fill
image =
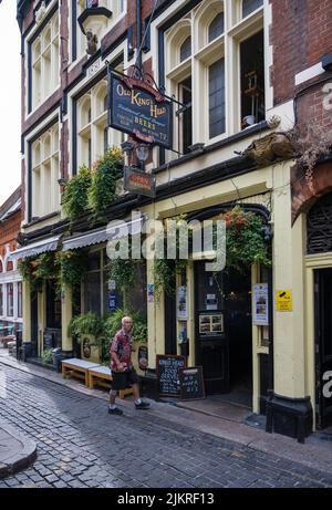
[[[104,315],[112,300],[125,300],[107,281],[107,221],[137,210],[149,219],[203,220],[241,205],[266,222],[271,267],[252,263],[241,277],[228,271],[218,287],[191,258],[174,275],[177,292],[158,302],[146,295],[152,261],[137,269],[132,294],[147,321],[146,381],[156,384],[156,354],[184,353],[189,366],[204,367],[208,394],[235,400],[241,394],[255,413],[268,409],[277,431],[307,435],[329,424],[331,397],[322,392],[329,395],[332,368],[331,7],[331,0],[18,1],[24,220],[15,258],[89,253],[79,291],[60,298],[46,279],[31,293],[24,282],[28,354],[41,355],[49,333],[72,355],[73,313]],[[97,37],[89,53],[87,31]],[[66,181],[127,138],[107,125],[106,64],[126,73],[141,61],[180,103],[172,149],[154,147],[146,163],[156,198],[120,191],[104,223],[92,227],[89,212],[72,222],[61,206]],[[326,139],[318,147],[321,129]],[[259,284],[268,289],[266,322],[252,320]],[[180,292],[186,314],[177,309]],[[220,334],[206,334],[207,320]]]

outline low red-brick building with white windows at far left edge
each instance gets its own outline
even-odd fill
[[[0,206],[0,334],[22,330],[22,277],[17,262],[10,260],[15,251],[21,229],[21,186]]]

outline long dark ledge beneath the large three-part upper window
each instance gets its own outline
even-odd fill
[[[234,144],[236,142],[242,140],[245,138],[248,138],[249,136],[252,136],[252,135],[256,135],[256,134],[261,134],[262,131],[267,131],[267,129],[269,129],[267,121],[261,121],[260,123],[256,124],[252,127],[248,127],[247,129],[240,131],[236,135],[228,136],[227,138],[224,138],[224,139],[221,139],[219,142],[216,142],[216,143],[214,143],[211,145],[206,145],[199,154],[197,154],[195,152],[193,154],[190,154],[190,153],[185,154],[184,156],[180,156],[177,159],[173,159],[169,163],[165,163],[162,166],[159,166],[158,168],[155,168],[153,170],[153,173],[154,174],[159,174],[159,173],[162,173],[162,171],[164,171],[164,170],[166,170],[168,168],[174,168],[174,167],[184,165],[185,163],[188,163],[191,159],[195,159],[196,157],[201,156],[203,154],[212,153],[215,150],[218,150],[219,148],[226,147],[226,146],[228,146],[230,144]]]

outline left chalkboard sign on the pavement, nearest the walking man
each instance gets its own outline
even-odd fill
[[[185,356],[157,355],[157,379],[159,396],[179,396],[178,370],[185,368]]]

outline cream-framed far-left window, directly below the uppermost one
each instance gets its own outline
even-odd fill
[[[31,160],[31,216],[42,217],[60,209],[58,124],[33,142]]]

